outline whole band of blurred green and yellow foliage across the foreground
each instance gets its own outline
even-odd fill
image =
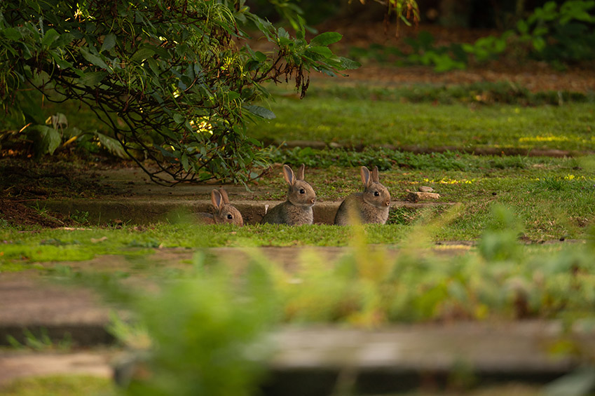
[[[395,259],[369,245],[367,228],[353,226],[346,229],[351,250],[334,264],[304,249],[297,268],[282,268],[248,250],[248,261],[224,266],[205,251],[196,254],[190,274],[172,275],[150,290],[134,291],[104,275],[75,278],[99,285],[135,313],[132,322],[116,320],[113,327],[125,345],[139,348],[135,364],[142,361],[143,374],[136,365],[119,371],[131,395],[250,394],[273,348],[266,334],[287,322],[364,328],[528,318],[562,320],[568,328],[576,320],[593,323],[593,233],[586,243],[524,247],[517,216],[495,206],[476,248],[430,249],[431,235],[457,211],[421,219]]]

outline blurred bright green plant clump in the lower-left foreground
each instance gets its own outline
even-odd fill
[[[194,262],[195,275],[135,299],[151,348],[128,395],[250,395],[264,374],[262,334],[278,316],[268,274],[254,262],[235,282],[203,254]]]

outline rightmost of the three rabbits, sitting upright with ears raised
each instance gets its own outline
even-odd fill
[[[343,200],[335,216],[335,224],[338,226],[350,224],[352,211],[360,217],[362,223],[385,224],[388,219],[390,193],[378,181],[378,167],[374,167],[370,173],[368,168],[362,166],[360,174],[364,183],[364,192],[350,194]]]

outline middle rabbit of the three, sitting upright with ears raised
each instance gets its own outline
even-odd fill
[[[312,186],[303,181],[304,168],[305,166],[302,164],[296,177],[292,168],[283,165],[283,177],[289,185],[287,200],[266,212],[261,220],[262,223],[289,224],[290,226],[313,223],[312,207],[316,202],[316,194]]]

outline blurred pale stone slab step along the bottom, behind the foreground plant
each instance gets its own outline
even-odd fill
[[[580,367],[576,355],[549,349],[560,339],[593,348],[595,337],[565,334],[557,322],[453,322],[448,325],[393,325],[383,329],[281,327],[267,362],[264,395],[370,395],[431,385],[443,389],[464,379],[475,386],[497,383],[545,384]],[[592,349],[591,349],[592,350]],[[25,376],[88,374],[120,376],[126,353],[0,353],[0,385]],[[128,367],[130,369],[130,367]],[[133,370],[133,369],[132,369]]]

